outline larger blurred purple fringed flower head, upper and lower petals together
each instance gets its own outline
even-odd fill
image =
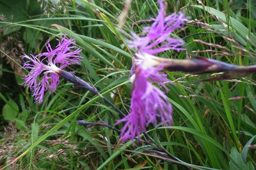
[[[157,125],[159,118],[163,125],[172,124],[172,104],[168,101],[164,92],[152,82],[158,83],[166,88],[164,82],[169,82],[163,71],[164,65],[157,60],[154,55],[166,50],[184,50],[181,46],[183,41],[171,38],[170,33],[184,24],[184,14],[172,14],[164,16],[164,3],[158,0],[160,10],[159,15],[154,20],[151,27],[144,27],[143,34],[138,36],[132,33],[133,40],[129,41],[131,48],[136,49],[135,60],[132,66],[132,99],[131,113],[122,118],[116,124],[125,122],[121,131],[121,140],[127,141],[140,136],[142,131],[146,131],[149,124]],[[157,47],[156,47],[157,46]]]

